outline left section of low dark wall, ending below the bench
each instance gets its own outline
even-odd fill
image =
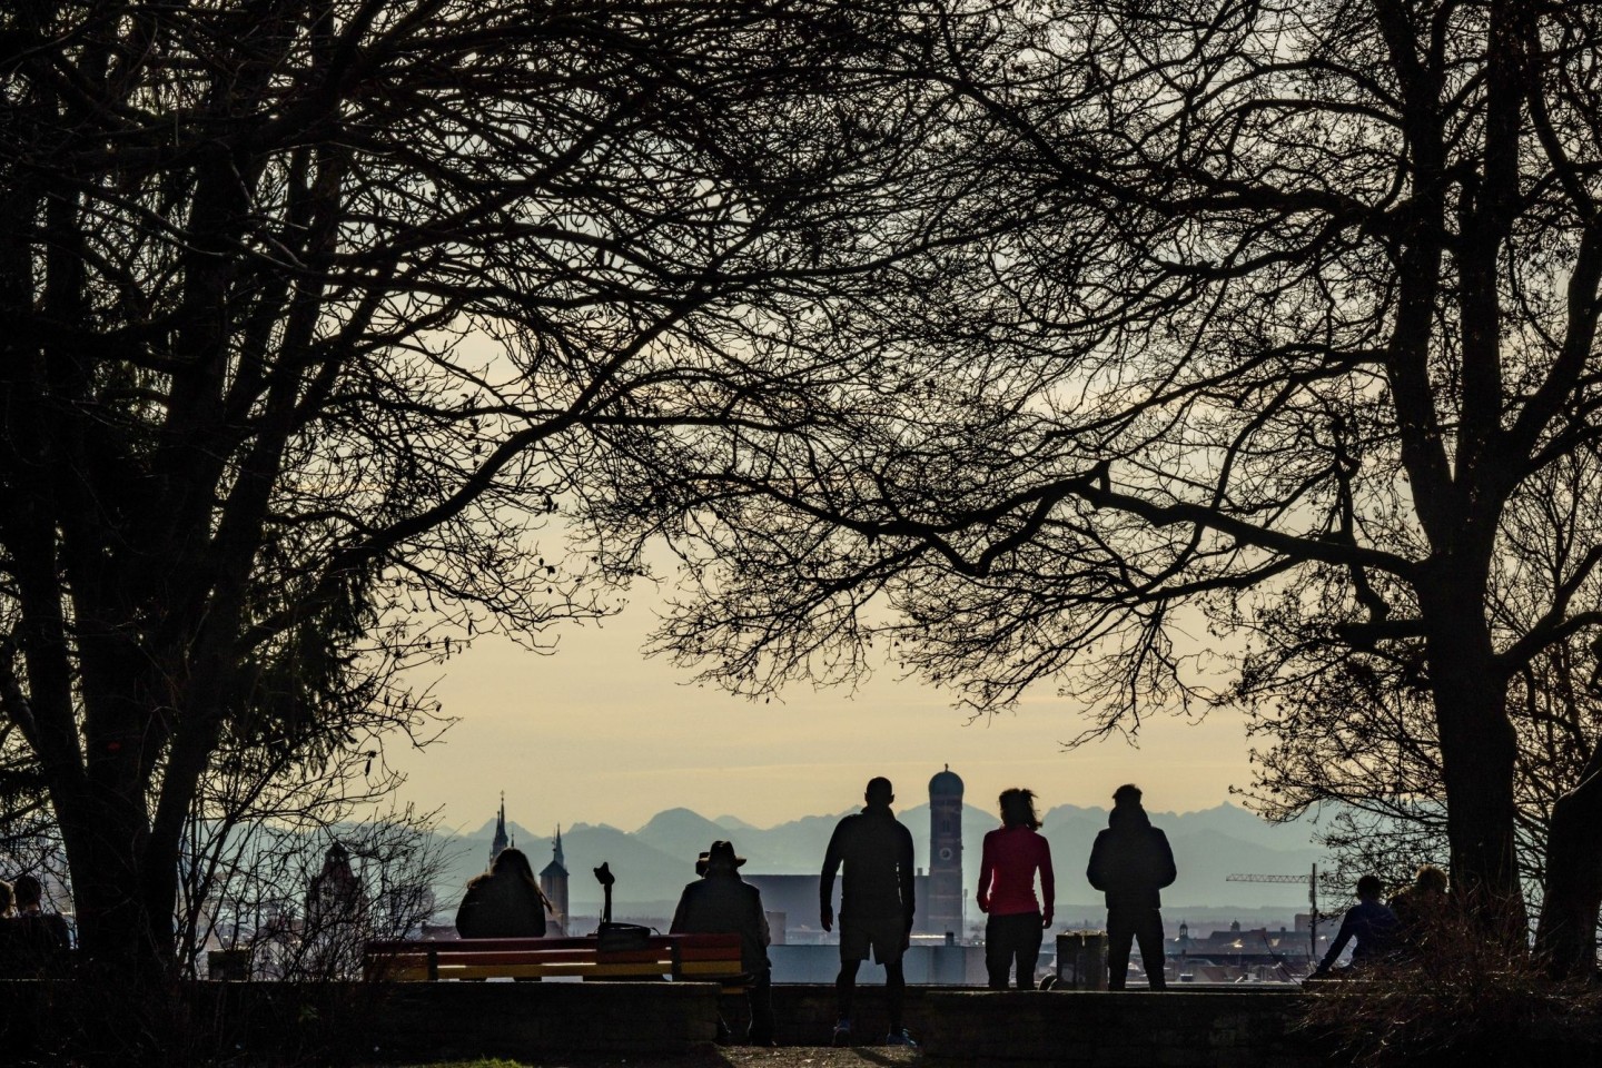
[[[252,1052],[391,1065],[682,1054],[711,1042],[716,1023],[713,983],[186,983],[139,998],[0,982],[0,1063],[117,1063],[152,1047],[195,1062]]]

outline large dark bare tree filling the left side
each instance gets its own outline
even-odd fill
[[[170,967],[186,826],[426,733],[396,669],[601,610],[538,536],[620,442],[772,418],[852,18],[0,10],[0,713],[85,951]]]

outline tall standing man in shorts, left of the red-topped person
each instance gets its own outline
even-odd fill
[[[857,969],[868,959],[884,966],[884,999],[889,1006],[891,1046],[915,1046],[902,1025],[907,977],[902,954],[912,935],[912,831],[891,812],[896,794],[888,778],[868,780],[862,794],[865,807],[835,828],[823,855],[819,881],[823,930],[835,929],[835,871],[844,865],[839,887],[839,977],[835,994],[839,1020],[835,1046],[851,1044],[851,1002],[857,990]]]

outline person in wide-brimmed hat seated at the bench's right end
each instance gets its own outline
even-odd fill
[[[674,935],[740,935],[740,967],[751,977],[745,988],[751,1007],[753,1046],[774,1044],[772,969],[767,962],[767,913],[763,892],[740,877],[745,857],[718,841],[695,860],[695,882],[684,887],[673,913]]]

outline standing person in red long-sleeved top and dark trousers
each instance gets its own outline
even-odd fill
[[[1035,990],[1040,938],[1051,927],[1056,884],[1051,874],[1051,842],[1041,837],[1035,793],[1001,791],[1001,826],[985,834],[979,861],[979,911],[985,922],[985,969],[990,990],[1006,990],[1008,972],[1017,962],[1017,988]],[[1040,900],[1035,900],[1035,873]]]

